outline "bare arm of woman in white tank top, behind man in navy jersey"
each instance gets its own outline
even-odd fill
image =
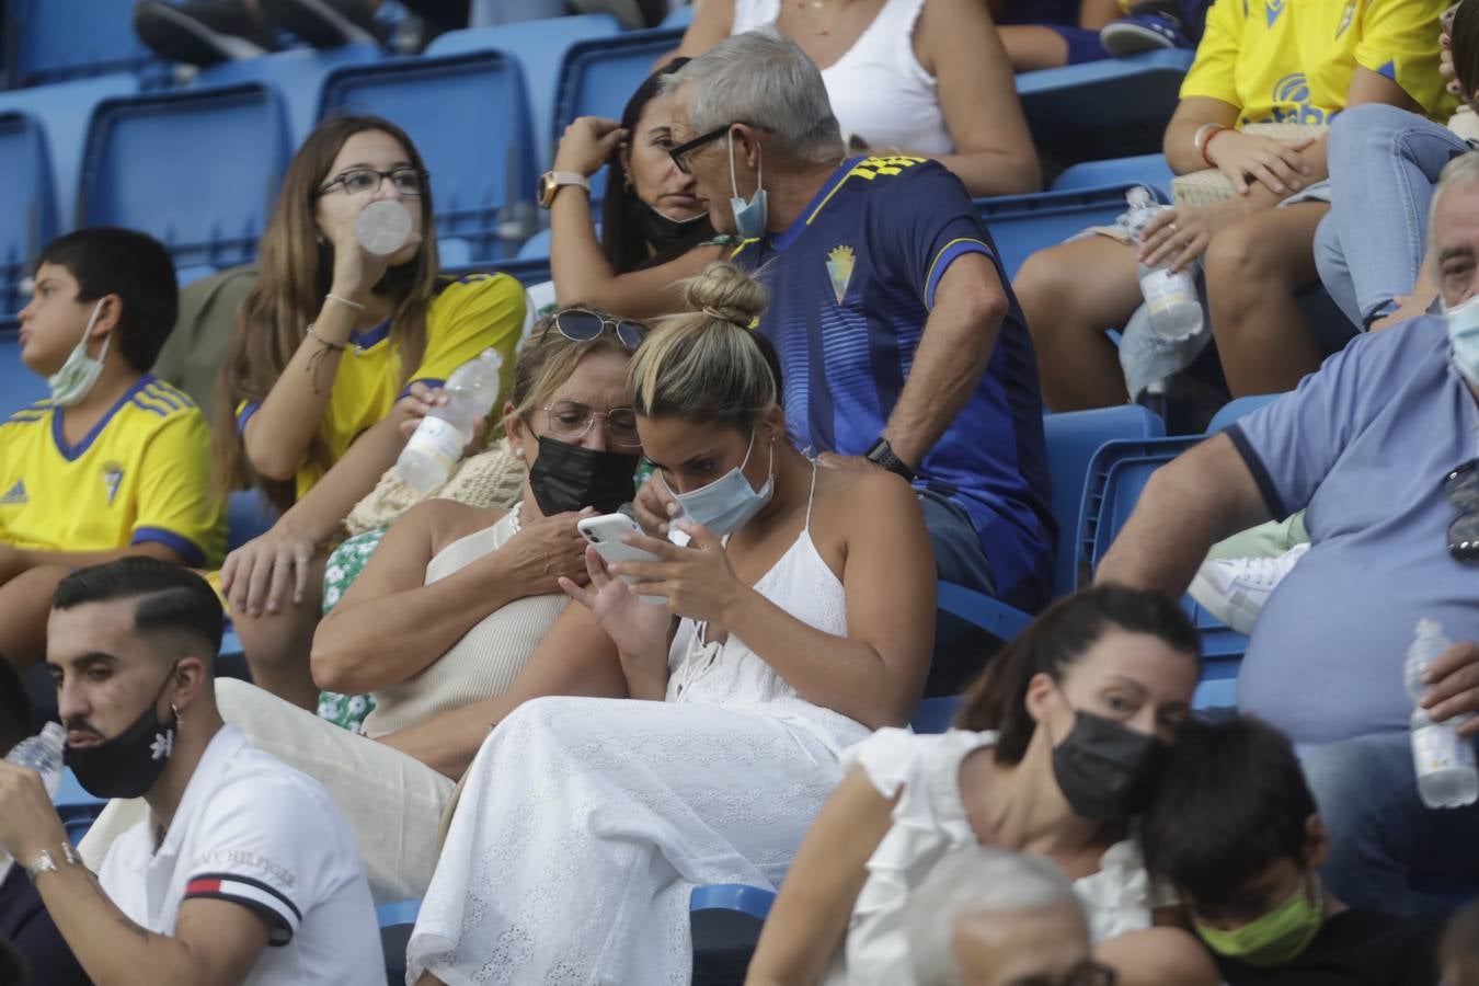
[[[955,145],[954,154],[923,157],[935,157],[978,198],[1038,191],[1043,176],[1012,65],[981,0],[929,0],[914,28],[914,47],[936,78]]]

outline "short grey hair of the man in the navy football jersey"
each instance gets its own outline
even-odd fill
[[[708,133],[747,123],[772,135],[781,151],[810,164],[840,161],[842,127],[827,84],[796,41],[771,28],[725,38],[664,75],[660,92],[688,90],[688,126]]]

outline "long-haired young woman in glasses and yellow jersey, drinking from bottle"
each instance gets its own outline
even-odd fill
[[[522,327],[510,278],[438,278],[427,180],[395,124],[319,124],[288,166],[222,367],[214,475],[226,491],[257,482],[282,514],[226,557],[220,588],[253,679],[305,708],[318,695],[308,650],[324,545],[395,463],[401,426],[444,401],[439,384],[482,349],[512,368]],[[356,235],[383,201],[411,226],[389,256]]]

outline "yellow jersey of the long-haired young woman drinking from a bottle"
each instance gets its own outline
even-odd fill
[[[352,334],[319,424],[330,460],[339,461],[365,429],[390,412],[413,383],[441,386],[453,370],[490,346],[503,353],[501,393],[509,393],[522,330],[524,285],[506,273],[475,273],[441,282],[426,312],[426,352],[410,377],[402,371],[398,343],[389,339],[389,321]],[[253,402],[237,408],[238,435],[259,407]],[[303,466],[294,483],[297,497],[312,489],[324,472]]]

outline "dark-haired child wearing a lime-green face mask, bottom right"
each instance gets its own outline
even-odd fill
[[[1257,718],[1182,732],[1140,841],[1228,986],[1438,980],[1435,928],[1347,908],[1321,883],[1330,835],[1290,741]]]

